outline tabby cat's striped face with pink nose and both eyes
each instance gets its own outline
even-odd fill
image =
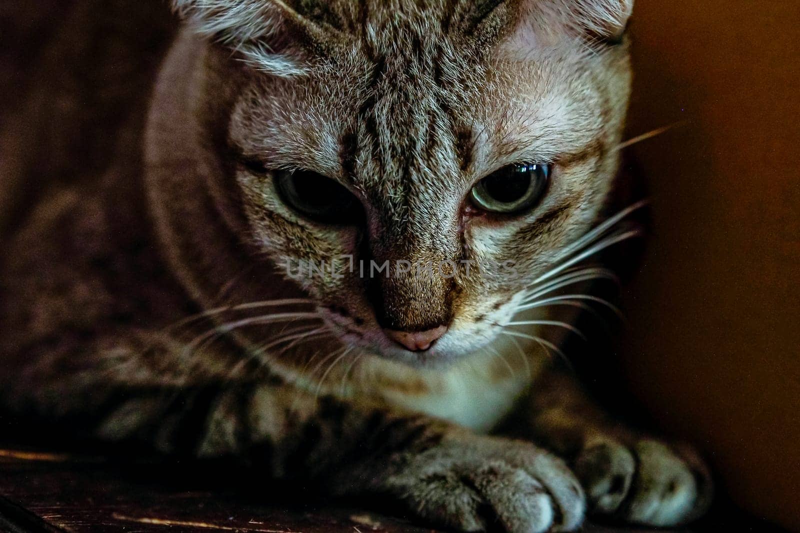
[[[494,340],[602,208],[630,67],[601,37],[630,5],[392,3],[178,6],[246,63],[246,239],[343,342],[434,364]]]

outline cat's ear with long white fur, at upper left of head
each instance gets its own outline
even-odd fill
[[[173,0],[194,32],[230,46],[258,70],[304,74],[311,56],[328,50],[330,31],[302,17],[282,0]]]

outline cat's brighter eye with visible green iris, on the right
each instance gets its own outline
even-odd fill
[[[550,165],[507,165],[478,181],[470,191],[470,201],[489,213],[520,213],[542,200],[549,177]]]

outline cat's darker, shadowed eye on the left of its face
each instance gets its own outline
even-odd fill
[[[278,170],[274,180],[282,201],[313,221],[353,224],[363,216],[358,198],[322,174],[311,170]]]

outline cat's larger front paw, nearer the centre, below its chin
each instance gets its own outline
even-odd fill
[[[574,531],[586,507],[561,459],[492,437],[468,436],[408,455],[384,487],[422,519],[459,531]]]

